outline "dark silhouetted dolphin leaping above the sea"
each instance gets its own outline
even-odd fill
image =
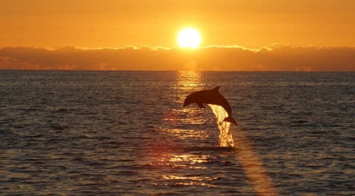
[[[183,107],[191,103],[197,103],[200,108],[206,108],[202,103],[219,105],[227,112],[228,117],[223,121],[237,125],[237,122],[232,118],[232,108],[227,100],[218,92],[220,87],[215,87],[211,90],[202,90],[191,93],[185,98]]]

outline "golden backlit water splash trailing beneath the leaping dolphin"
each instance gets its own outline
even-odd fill
[[[211,107],[213,114],[217,119],[217,125],[220,131],[219,138],[218,138],[219,146],[234,147],[233,135],[231,132],[229,132],[229,127],[231,123],[223,122],[223,119],[228,116],[227,112],[224,110],[222,106],[211,105],[211,104],[208,105]]]

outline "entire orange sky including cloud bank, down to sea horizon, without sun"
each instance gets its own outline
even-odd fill
[[[355,71],[352,0],[0,0],[0,5],[0,69]],[[177,34],[187,27],[200,33],[200,48],[175,48]],[[75,52],[94,53],[96,64],[79,65],[87,62],[75,60]],[[132,64],[141,56],[148,62]],[[162,60],[171,66],[159,67]]]

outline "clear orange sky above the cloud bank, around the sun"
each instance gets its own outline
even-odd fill
[[[0,47],[177,46],[185,27],[200,46],[271,43],[355,46],[352,0],[0,0]]]

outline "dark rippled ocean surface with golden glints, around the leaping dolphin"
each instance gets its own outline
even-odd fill
[[[355,195],[355,72],[0,70],[0,195]]]

